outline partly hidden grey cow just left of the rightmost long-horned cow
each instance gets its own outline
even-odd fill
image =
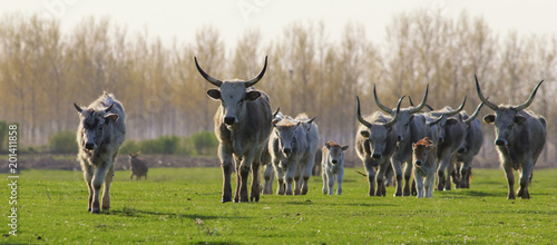
[[[483,145],[483,133],[481,131],[480,120],[477,118],[483,104],[481,102],[472,116],[468,116],[466,111],[460,115],[465,119],[467,130],[465,144],[458,150],[457,167],[455,169],[457,179],[457,188],[470,188],[470,176],[472,174],[472,160]]]

